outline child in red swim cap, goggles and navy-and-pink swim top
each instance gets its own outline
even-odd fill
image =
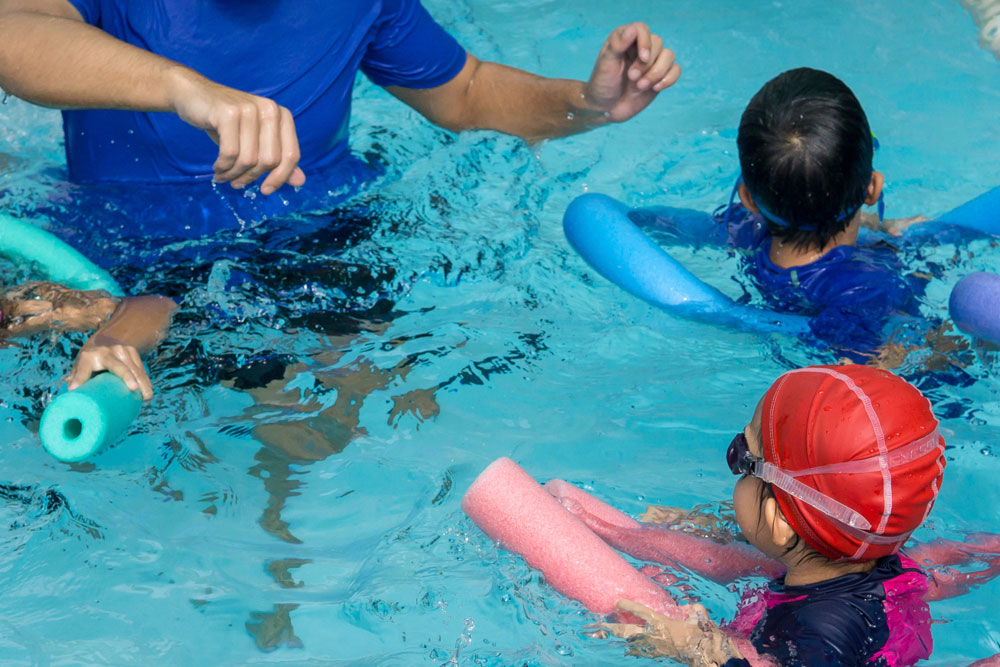
[[[692,665],[899,667],[929,657],[927,575],[898,551],[941,488],[937,426],[927,399],[887,371],[785,373],[727,452],[741,475],[736,521],[784,576],[746,595],[725,629],[700,605],[688,607],[690,623],[620,606],[649,621],[642,634],[658,653]]]

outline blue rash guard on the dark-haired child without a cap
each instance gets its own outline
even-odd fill
[[[725,212],[716,216],[724,218]],[[878,349],[892,316],[920,316],[923,284],[904,278],[902,262],[885,244],[839,246],[783,269],[770,260],[772,239],[760,216],[734,205],[724,231],[727,243],[746,253],[746,272],[770,308],[810,317],[817,338],[856,361]]]

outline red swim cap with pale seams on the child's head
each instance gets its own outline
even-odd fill
[[[927,518],[941,488],[944,439],[937,425],[930,402],[887,371],[810,366],[785,373],[764,395],[764,460],[855,510],[871,527],[848,526],[772,485],[782,514],[828,558],[895,553]],[[815,474],[795,474],[806,470]]]

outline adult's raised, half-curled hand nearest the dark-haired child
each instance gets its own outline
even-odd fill
[[[649,106],[681,75],[674,52],[642,22],[616,28],[605,40],[584,97],[608,120],[626,121]]]

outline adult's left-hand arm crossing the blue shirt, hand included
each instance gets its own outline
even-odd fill
[[[0,88],[62,109],[176,113],[219,145],[216,181],[243,187],[270,172],[264,194],[305,182],[288,109],[115,39],[67,0],[0,0]]]

